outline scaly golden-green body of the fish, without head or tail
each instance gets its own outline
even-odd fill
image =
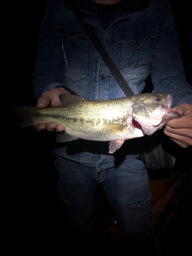
[[[125,140],[135,137],[128,124],[132,113],[132,98],[80,100],[69,106],[38,110],[34,123],[55,122],[65,126],[71,136],[98,141]],[[138,130],[138,129],[137,129]],[[143,136],[138,130],[138,137]]]

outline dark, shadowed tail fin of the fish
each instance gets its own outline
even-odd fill
[[[8,108],[5,114],[6,126],[10,129],[20,129],[34,125],[33,115],[37,111],[35,106],[16,106]]]

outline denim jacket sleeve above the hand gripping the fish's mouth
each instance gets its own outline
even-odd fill
[[[173,106],[192,104],[192,86],[186,81],[179,41],[171,11],[167,14],[155,40],[151,62],[154,91],[173,93]]]

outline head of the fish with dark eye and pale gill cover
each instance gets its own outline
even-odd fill
[[[131,125],[142,129],[145,134],[152,135],[161,129],[170,119],[179,118],[180,114],[171,109],[172,93],[140,94],[132,107]]]

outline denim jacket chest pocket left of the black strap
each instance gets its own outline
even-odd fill
[[[83,34],[68,31],[65,27],[58,29],[63,54],[63,75],[71,82],[79,82],[90,75],[90,42]]]

